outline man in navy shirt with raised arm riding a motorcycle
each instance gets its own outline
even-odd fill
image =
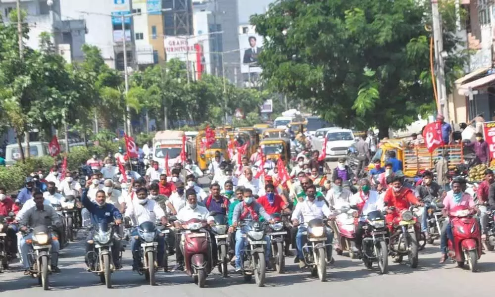
[[[106,203],[106,194],[103,190],[98,190],[96,193],[95,201],[92,201],[88,197],[89,187],[91,185],[91,180],[88,180],[86,183],[86,187],[83,190],[83,195],[81,197],[81,203],[83,203],[84,207],[89,211],[91,217],[91,224],[93,226],[98,225],[100,222],[115,222],[116,225],[120,225],[122,223],[122,214],[120,211],[112,204]],[[88,237],[86,238],[86,255],[88,252],[93,251],[95,249],[95,244],[90,244],[89,242],[93,242],[93,236],[95,231],[92,230]],[[112,247],[112,258],[115,269],[120,269],[120,251],[121,251],[121,243],[120,240],[113,240]],[[92,269],[89,268],[89,260],[87,256],[85,256],[86,265],[88,265],[88,271]]]

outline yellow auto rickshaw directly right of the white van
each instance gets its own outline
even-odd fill
[[[195,139],[196,141],[196,161],[198,163],[198,167],[201,170],[208,169],[208,165],[211,160],[215,157],[215,152],[219,151],[225,160],[229,159],[229,154],[227,153],[227,135],[226,134],[216,134],[215,142],[210,146],[210,148],[204,148],[204,152],[202,152],[201,147],[205,147],[205,144],[201,144],[201,142],[205,143],[205,133],[204,131],[200,131],[198,136]]]

